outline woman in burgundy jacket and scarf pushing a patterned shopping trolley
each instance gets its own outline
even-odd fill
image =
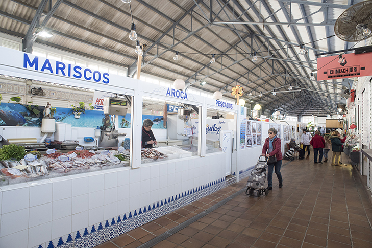
[[[279,188],[283,187],[283,178],[280,173],[280,168],[282,166],[283,155],[281,152],[282,142],[277,137],[278,131],[275,128],[270,128],[268,130],[269,137],[266,138],[265,144],[262,148],[262,156],[277,156],[277,162],[272,165],[267,165],[267,189],[272,190],[272,171],[275,168],[275,174],[277,174],[279,181]],[[267,151],[267,154],[266,154]]]

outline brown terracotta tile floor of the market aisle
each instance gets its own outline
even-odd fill
[[[309,160],[283,161],[283,188],[274,175],[267,196],[244,191],[153,247],[372,247],[365,178],[359,178],[344,154],[348,166],[342,167],[314,164],[312,155]],[[245,188],[246,179],[97,248],[138,247]]]

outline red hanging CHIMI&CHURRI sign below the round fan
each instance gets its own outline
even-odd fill
[[[372,53],[343,54],[343,63],[338,62],[338,55],[318,58],[317,80],[354,78],[372,75]]]

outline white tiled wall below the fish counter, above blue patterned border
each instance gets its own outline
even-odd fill
[[[0,188],[0,247],[47,247],[60,237],[225,176],[225,153],[163,161]]]

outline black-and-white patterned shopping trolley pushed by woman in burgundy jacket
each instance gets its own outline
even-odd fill
[[[267,188],[265,189],[267,159],[264,161],[260,159],[261,156],[258,158],[258,162],[246,182],[248,188],[246,189],[245,194],[247,195],[260,196],[263,195],[263,193],[265,193],[265,195],[268,195],[269,193],[269,190]]]

